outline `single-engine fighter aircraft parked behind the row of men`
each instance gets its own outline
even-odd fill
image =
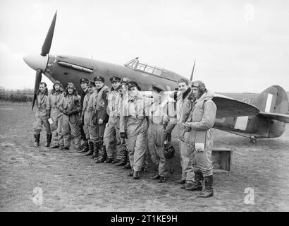
[[[109,85],[111,76],[128,77],[131,81],[136,81],[142,90],[148,90],[152,85],[158,84],[172,92],[176,88],[177,81],[185,78],[173,71],[143,64],[138,58],[121,66],[94,59],[49,54],[56,15],[57,11],[42,45],[41,54],[23,58],[25,63],[36,71],[35,92],[39,88],[42,73],[52,82],[58,80],[63,85],[72,82],[79,91],[81,89],[79,80],[82,77],[93,80],[95,76],[103,76],[106,85]],[[285,123],[289,122],[289,116],[286,115],[288,97],[283,88],[278,85],[266,89],[252,105],[219,94],[215,94],[213,100],[217,106],[214,128],[246,136],[252,143],[256,143],[257,138],[281,136],[285,130]],[[35,97],[32,109],[34,104]]]

